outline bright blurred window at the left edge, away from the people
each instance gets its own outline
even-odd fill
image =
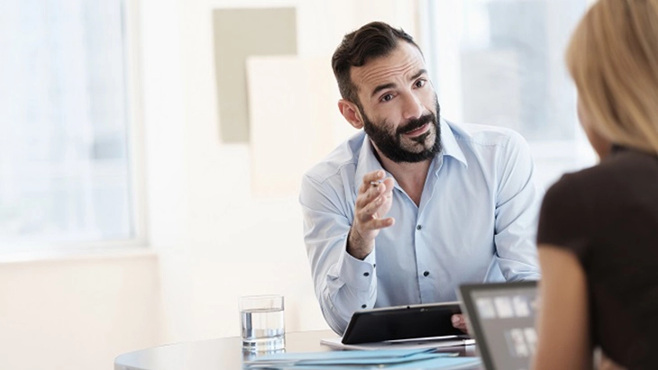
[[[125,21],[120,0],[4,1],[0,252],[138,237]]]

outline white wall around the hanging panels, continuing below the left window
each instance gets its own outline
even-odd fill
[[[416,2],[140,1],[137,77],[154,253],[0,264],[1,369],[110,369],[114,356],[141,347],[237,336],[245,294],[284,294],[288,330],[327,328],[297,195],[251,195],[250,149],[221,143],[212,10],[296,6],[299,54],[325,57],[330,68],[343,34],[363,23],[418,34]]]

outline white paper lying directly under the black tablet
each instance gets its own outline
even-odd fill
[[[385,342],[375,343],[343,344],[341,338],[327,338],[321,339],[320,344],[324,344],[325,346],[333,347],[336,349],[422,349],[471,346],[475,344],[475,340],[471,338],[460,337],[437,337],[388,340]]]

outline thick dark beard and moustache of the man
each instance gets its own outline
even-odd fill
[[[441,152],[441,125],[439,124],[438,117],[440,117],[441,107],[439,106],[438,100],[435,101],[436,104],[436,115],[434,113],[428,113],[420,116],[417,119],[412,119],[407,121],[402,126],[399,126],[395,132],[387,130],[390,125],[386,120],[377,122],[377,124],[370,121],[368,116],[361,109],[361,116],[363,117],[363,130],[366,131],[370,140],[375,144],[375,146],[381,151],[381,153],[386,156],[388,159],[396,162],[409,162],[416,163],[422,162],[427,159],[432,159],[434,156]],[[434,142],[425,143],[428,136],[432,134],[432,128],[418,135],[415,138],[410,138],[413,140],[416,146],[423,146],[422,150],[412,151],[405,149],[402,144],[402,135],[406,132],[414,131],[425,123],[431,123],[434,126]]]

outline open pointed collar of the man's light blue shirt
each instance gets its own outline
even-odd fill
[[[462,162],[464,166],[468,167],[466,162],[466,157],[462,152],[457,140],[454,137],[451,126],[445,120],[440,119],[439,124],[441,125],[441,144],[443,149],[437,157],[449,156],[455,158]],[[359,161],[357,162],[356,171],[354,173],[354,190],[356,193],[359,193],[359,186],[363,182],[363,176],[372,171],[377,171],[382,169],[386,172],[386,176],[391,176],[384,167],[381,167],[379,160],[375,157],[374,147],[370,142],[368,135],[363,135],[363,145],[361,146],[361,151],[359,153]],[[440,166],[436,166],[436,158],[432,160],[432,167],[435,172],[438,172]]]

